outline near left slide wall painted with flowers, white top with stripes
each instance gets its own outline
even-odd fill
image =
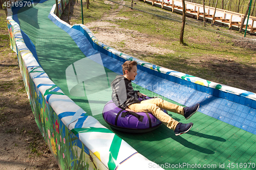
[[[49,79],[26,46],[11,9],[8,15],[11,48],[17,53],[36,123],[59,167],[147,169],[148,164],[156,165],[84,112]]]

